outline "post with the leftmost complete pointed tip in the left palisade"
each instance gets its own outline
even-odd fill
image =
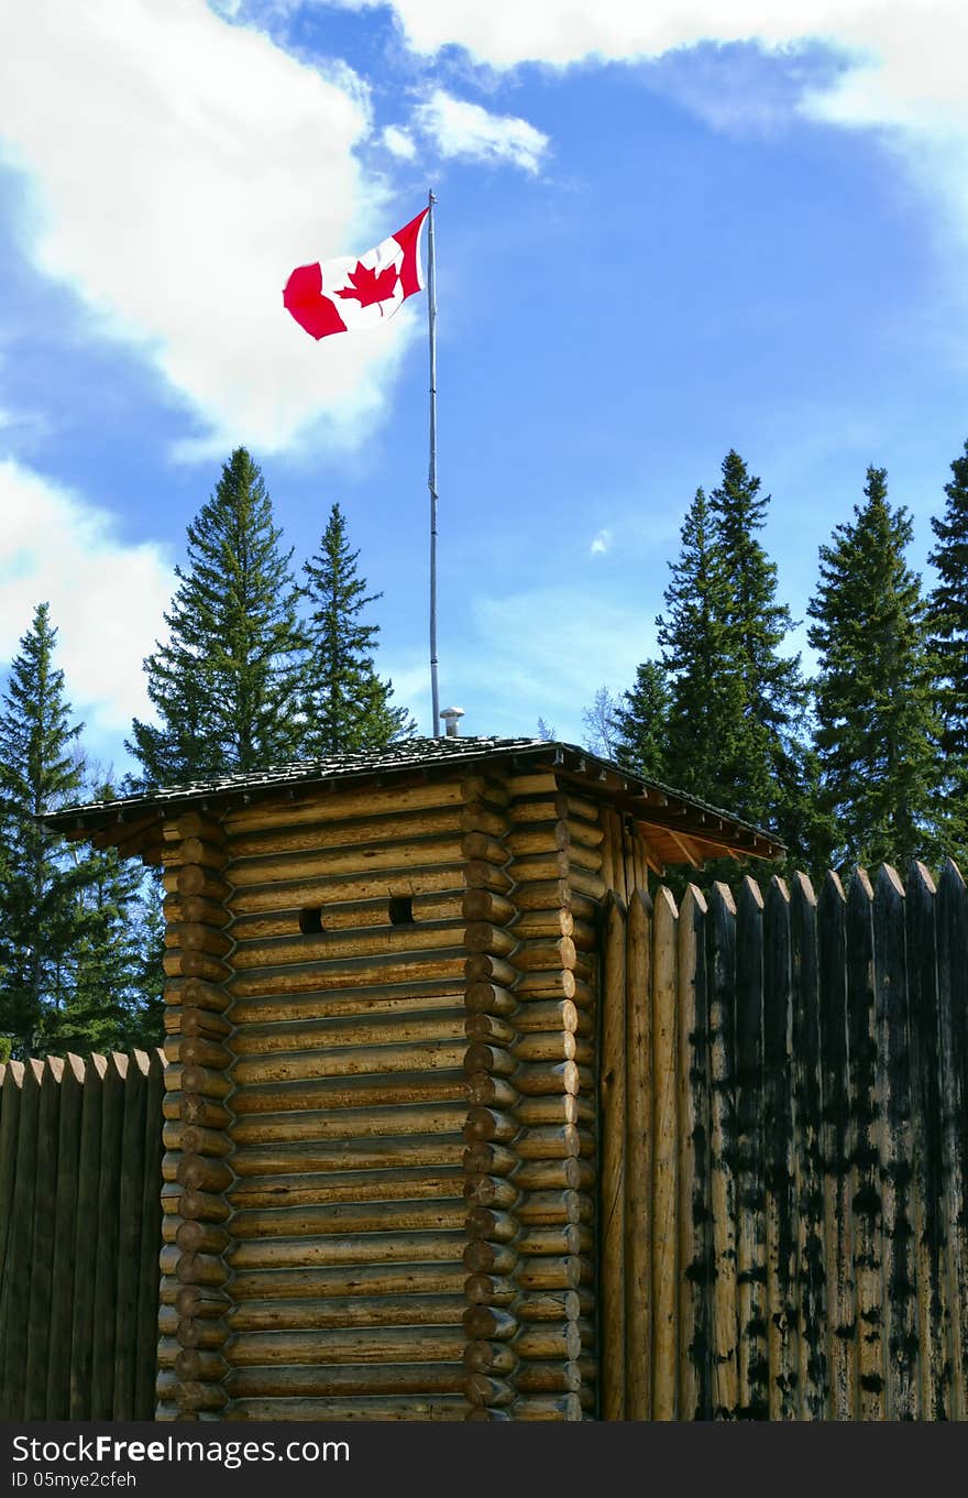
[[[27,1365],[27,1333],[30,1311],[30,1258],[33,1249],[34,1182],[37,1170],[37,1125],[40,1118],[40,1085],[43,1064],[24,1065],[16,1135],[16,1165],[13,1210],[7,1236],[6,1273],[6,1345],[3,1383],[7,1392],[9,1419],[22,1420],[25,1408],[24,1369]]]

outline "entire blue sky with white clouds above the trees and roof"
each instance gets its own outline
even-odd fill
[[[296,560],[343,506],[429,731],[425,297],[319,345],[281,307],[429,186],[467,733],[583,739],[729,448],[794,617],[868,463],[925,568],[968,437],[967,42],[950,0],[6,7],[0,670],[49,599],[85,743],[124,767],[186,524],[241,442]]]

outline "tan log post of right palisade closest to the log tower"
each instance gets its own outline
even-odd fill
[[[601,1419],[625,1419],[625,905],[604,909],[601,1016]]]

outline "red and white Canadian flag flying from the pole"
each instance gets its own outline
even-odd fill
[[[299,265],[286,282],[283,306],[314,339],[379,327],[407,297],[423,291],[420,231],[428,213],[425,208],[359,259],[341,255]]]

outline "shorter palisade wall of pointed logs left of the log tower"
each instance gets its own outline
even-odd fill
[[[0,1065],[0,1419],[150,1420],[160,1052]]]

